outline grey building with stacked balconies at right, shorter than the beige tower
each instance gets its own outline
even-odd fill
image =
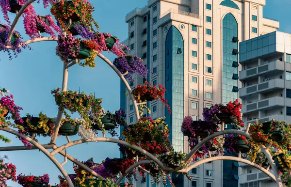
[[[245,124],[272,119],[291,123],[291,34],[274,31],[241,42],[239,48]],[[240,177],[240,187],[276,187],[264,173],[246,165]]]

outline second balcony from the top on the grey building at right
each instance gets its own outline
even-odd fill
[[[251,86],[240,88],[240,98],[246,97],[251,94],[259,94],[264,92],[270,92],[276,89],[284,89],[285,81],[280,78],[266,79],[262,83],[254,84]]]

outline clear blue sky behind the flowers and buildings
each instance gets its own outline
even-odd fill
[[[136,7],[144,7],[147,0],[90,0],[95,7],[93,16],[97,21],[100,31],[109,32],[117,36],[121,41],[128,36],[128,24],[125,16]],[[263,9],[264,16],[280,21],[279,31],[291,33],[290,11],[291,0],[266,0]],[[36,4],[36,12],[41,15],[49,14],[49,9],[43,9],[41,4]],[[10,14],[11,19],[15,16]],[[5,23],[2,16],[0,22]],[[25,33],[22,18],[16,26],[16,31]],[[24,39],[28,37],[22,34]],[[0,52],[0,88],[10,90],[14,95],[15,103],[23,108],[21,115],[30,113],[38,115],[40,111],[49,117],[57,115],[57,105],[51,90],[62,87],[63,62],[55,55],[56,42],[40,42],[30,45],[32,50],[24,50],[17,58],[8,60],[8,55]],[[114,59],[112,54],[105,54],[110,60]],[[69,68],[68,89],[80,90],[86,94],[95,93],[102,98],[102,107],[105,110],[118,110],[120,108],[120,80],[114,71],[100,59],[96,60],[96,68],[81,67],[74,65]],[[5,132],[1,134],[9,137],[12,144],[0,141],[0,146],[23,145],[15,136]],[[80,137],[70,137],[78,140]],[[41,144],[49,143],[49,138],[38,138]],[[57,145],[66,143],[65,137],[59,137]],[[118,146],[109,142],[83,143],[70,147],[67,153],[80,161],[94,158],[100,163],[106,157],[118,157]],[[58,183],[57,176],[61,172],[53,165],[47,156],[37,150],[0,152],[0,156],[7,155],[7,162],[13,163],[19,173],[32,174],[35,176],[48,173],[50,184]],[[63,156],[56,156],[60,163],[64,161]],[[65,166],[68,173],[73,173],[72,162],[68,161]],[[8,181],[8,186],[20,187],[16,183]]]

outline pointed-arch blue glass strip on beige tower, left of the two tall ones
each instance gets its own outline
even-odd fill
[[[177,53],[178,48],[181,48],[181,54]],[[175,151],[183,152],[184,136],[181,124],[184,119],[184,40],[174,26],[167,33],[165,51],[165,99],[172,109],[172,114],[165,110],[165,117],[170,131],[169,139]]]

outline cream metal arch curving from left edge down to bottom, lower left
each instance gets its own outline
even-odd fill
[[[49,154],[49,151],[47,151],[43,146],[41,146],[39,143],[37,143],[36,141],[32,140],[31,138],[25,136],[25,135],[22,135],[20,133],[18,133],[16,130],[13,130],[11,128],[4,128],[4,129],[1,129],[3,131],[6,131],[6,132],[9,132],[11,134],[14,134],[24,140],[27,140],[28,142],[30,142],[32,145],[34,145],[35,147],[37,147],[41,152],[43,152],[46,156],[49,157],[49,159],[56,165],[56,167],[62,172],[62,174],[64,175],[65,177],[65,180],[67,181],[68,185],[70,187],[74,187],[69,175],[66,173],[65,169],[61,166],[61,164],[58,162],[58,160],[53,157],[53,156],[50,156]]]

